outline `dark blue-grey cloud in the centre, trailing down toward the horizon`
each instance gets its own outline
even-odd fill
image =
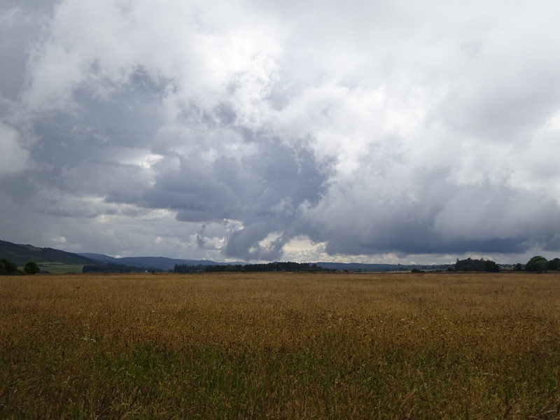
[[[156,177],[146,190],[132,197],[116,190],[106,200],[169,209],[177,221],[242,221],[243,228],[228,238],[224,254],[274,260],[280,258],[283,244],[300,233],[295,229],[300,207],[318,202],[325,181],[306,149],[290,148],[278,139],[259,139],[251,155],[213,161],[183,157],[177,169]],[[276,232],[281,232],[279,238],[263,249],[260,241]],[[201,244],[203,238],[197,235],[197,242]]]

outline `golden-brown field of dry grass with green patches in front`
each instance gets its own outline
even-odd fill
[[[0,277],[1,419],[558,419],[559,274]]]

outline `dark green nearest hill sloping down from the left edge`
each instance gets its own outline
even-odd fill
[[[38,248],[33,245],[13,244],[8,241],[0,241],[0,258],[7,258],[20,266],[25,265],[29,260],[34,260],[38,264],[54,262],[57,264],[94,265],[97,263],[90,258],[76,253],[60,251],[54,248]]]

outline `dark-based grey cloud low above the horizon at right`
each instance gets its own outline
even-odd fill
[[[324,200],[313,209],[320,220],[316,240],[327,242],[330,254],[526,253],[535,246],[552,248],[560,228],[560,207],[554,200],[511,188],[456,186],[446,174],[418,174],[409,194],[364,189],[367,199]],[[331,190],[330,195],[357,194]],[[332,208],[336,206],[336,208]],[[334,214],[344,214],[334,218]],[[557,250],[557,248],[556,248]]]

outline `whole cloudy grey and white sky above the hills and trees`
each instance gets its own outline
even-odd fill
[[[560,256],[560,2],[0,0],[0,239]]]

